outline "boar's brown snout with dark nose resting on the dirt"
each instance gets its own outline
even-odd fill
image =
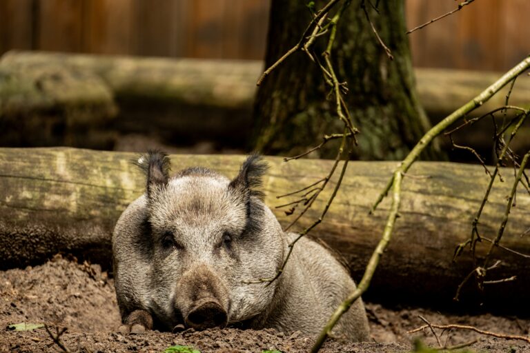
[[[228,323],[228,292],[206,264],[197,265],[181,277],[175,299],[186,327],[205,330]]]

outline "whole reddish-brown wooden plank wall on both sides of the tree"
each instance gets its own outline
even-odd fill
[[[0,0],[10,49],[262,59],[270,0]],[[458,6],[406,0],[409,28]],[[529,0],[480,0],[410,35],[416,66],[507,70],[530,54]]]

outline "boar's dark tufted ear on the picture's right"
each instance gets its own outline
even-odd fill
[[[230,181],[229,188],[242,192],[246,197],[257,196],[264,198],[264,193],[259,188],[262,186],[263,174],[268,169],[266,161],[257,154],[252,154],[241,165],[237,177]]]

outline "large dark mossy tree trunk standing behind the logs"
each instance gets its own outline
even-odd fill
[[[360,3],[352,1],[342,14],[331,53],[338,80],[348,83],[346,104],[361,131],[355,157],[402,159],[429,127],[415,92],[404,3],[380,1],[379,13],[366,5],[393,61],[377,41]],[[322,7],[323,3],[317,4]],[[272,1],[266,67],[297,43],[310,20],[304,1]],[[315,54],[321,61],[326,44],[322,38],[327,36],[315,41]],[[335,104],[325,101],[328,94],[320,69],[306,54],[300,51],[289,57],[258,89],[254,114],[257,149],[297,154],[319,143],[324,133],[342,131]],[[331,157],[336,150],[336,143],[328,143],[320,157]],[[430,150],[424,157],[435,154]]]

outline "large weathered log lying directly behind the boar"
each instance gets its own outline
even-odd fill
[[[0,149],[0,268],[35,264],[56,252],[109,265],[110,237],[119,214],[144,189],[144,177],[130,161],[135,154],[96,152],[70,148]],[[242,156],[173,155],[173,170],[206,165],[228,177],[237,174]],[[301,160],[284,163],[267,157],[271,170],[264,179],[266,203],[282,224],[293,216],[275,209],[293,197],[278,194],[302,188],[323,177],[331,161]],[[396,163],[352,162],[342,189],[315,236],[340,250],[356,279],[377,243],[389,200],[369,216],[368,210],[390,177]],[[513,170],[502,170],[504,182],[496,181],[480,220],[480,232],[493,239],[504,214],[505,197],[511,188]],[[386,303],[427,303],[451,306],[460,281],[472,269],[469,254],[452,263],[455,245],[470,234],[471,221],[480,205],[488,177],[482,167],[457,163],[418,162],[404,180],[402,210],[395,236],[377,269],[371,299]],[[325,198],[302,219],[301,227],[319,215]],[[520,188],[502,245],[530,253],[530,196]],[[483,256],[489,244],[478,245]],[[529,313],[530,261],[502,249],[495,251],[502,266],[491,271],[494,279],[517,275],[517,281],[490,285],[477,295],[467,285],[462,299],[487,308]],[[474,295],[471,295],[474,294]]]

